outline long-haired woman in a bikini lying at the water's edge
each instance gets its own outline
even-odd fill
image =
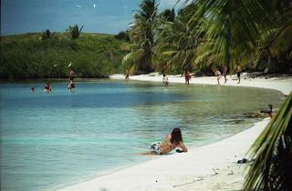
[[[170,153],[175,148],[178,153],[188,152],[186,146],[183,145],[183,136],[180,128],[174,128],[172,134],[166,135],[161,143],[153,143],[150,146],[151,154],[163,155]]]

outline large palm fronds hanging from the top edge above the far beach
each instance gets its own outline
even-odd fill
[[[262,5],[256,0],[198,0],[193,4],[199,8],[189,22],[196,35],[204,39],[195,62],[207,60],[232,68],[235,60],[248,60],[265,29],[267,13]]]

